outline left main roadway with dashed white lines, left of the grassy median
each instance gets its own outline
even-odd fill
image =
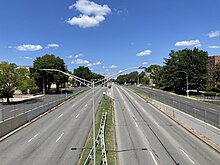
[[[95,110],[104,88],[95,90]],[[1,165],[73,165],[92,126],[92,91],[66,104],[0,142]]]

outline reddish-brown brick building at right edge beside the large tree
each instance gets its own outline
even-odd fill
[[[209,56],[208,57],[208,86],[214,87],[216,85],[215,79],[214,79],[214,68],[215,65],[220,62],[220,56]]]

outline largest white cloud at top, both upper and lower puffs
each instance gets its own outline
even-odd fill
[[[105,20],[105,15],[111,12],[107,5],[99,5],[89,0],[78,0],[69,9],[76,8],[81,14],[78,17],[67,19],[67,23],[78,25],[81,28],[98,26]]]

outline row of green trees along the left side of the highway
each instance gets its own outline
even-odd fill
[[[52,84],[56,84],[56,93],[59,93],[60,86],[69,81],[68,76],[62,73],[40,69],[57,69],[89,81],[104,78],[104,76],[93,73],[88,67],[84,66],[74,69],[72,73],[68,71],[64,60],[53,54],[37,57],[29,71],[14,63],[0,62],[0,98],[6,98],[9,103],[9,98],[13,97],[15,90],[20,90],[23,94],[35,94],[42,92],[43,86],[45,92],[50,93]],[[72,83],[77,84],[75,81]]]

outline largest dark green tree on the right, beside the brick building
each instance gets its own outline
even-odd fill
[[[207,79],[208,53],[198,48],[171,51],[165,59],[161,87],[186,91],[186,73],[189,89],[204,89]],[[186,72],[186,73],[184,73]]]

